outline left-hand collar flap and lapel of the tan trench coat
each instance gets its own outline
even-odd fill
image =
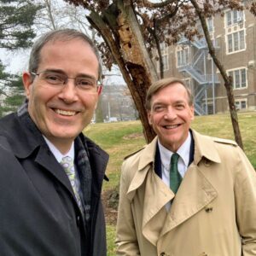
[[[136,190],[145,185],[143,196],[143,236],[156,245],[160,230],[166,219],[165,205],[174,197],[172,190],[154,172],[154,155],[157,137],[146,148],[138,165],[138,171],[131,181],[127,196],[132,200]]]

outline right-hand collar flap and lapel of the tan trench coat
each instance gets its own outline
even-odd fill
[[[172,207],[167,214],[160,236],[164,236],[179,224],[183,224],[218,196],[217,189],[204,174],[212,162],[220,163],[218,152],[212,149],[215,147],[211,139],[195,131],[193,131],[193,137],[195,140],[194,161],[189,166],[177,190],[177,195],[172,201]],[[211,148],[211,151],[208,148]]]

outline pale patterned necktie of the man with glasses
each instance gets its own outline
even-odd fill
[[[79,208],[81,212],[84,212],[82,207],[81,197],[79,195],[79,186],[76,183],[76,178],[75,178],[76,173],[73,166],[73,159],[70,156],[65,156],[62,158],[60,164],[64,168],[65,172],[67,173],[67,177],[69,178],[69,181],[72,185],[73,192],[78,202]]]

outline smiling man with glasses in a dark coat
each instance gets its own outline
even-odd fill
[[[0,120],[0,255],[107,254],[108,154],[82,133],[101,76],[98,51],[81,32],[49,32],[33,45],[26,102]]]

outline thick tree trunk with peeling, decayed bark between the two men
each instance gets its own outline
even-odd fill
[[[91,11],[88,20],[108,44],[140,113],[146,141],[151,142],[155,133],[148,124],[144,105],[148,87],[157,79],[157,73],[131,4],[114,1],[101,16]]]

